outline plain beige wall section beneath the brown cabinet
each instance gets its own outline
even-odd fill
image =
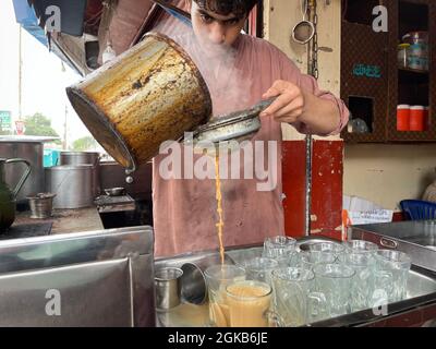
[[[344,194],[396,209],[404,198],[421,198],[436,180],[436,144],[346,146]]]

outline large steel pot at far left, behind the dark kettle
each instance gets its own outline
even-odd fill
[[[44,192],[44,142],[53,137],[37,136],[0,136],[0,157],[22,158],[31,163],[32,171],[20,193],[17,204],[27,202],[27,196]],[[20,166],[9,166],[5,171],[7,183],[13,185],[21,178],[23,169]]]

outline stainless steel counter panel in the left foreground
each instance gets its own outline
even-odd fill
[[[155,326],[153,229],[0,241],[0,326]]]

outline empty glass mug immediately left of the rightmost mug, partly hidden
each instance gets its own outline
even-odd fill
[[[339,262],[351,267],[355,275],[351,285],[351,311],[358,312],[375,305],[374,277],[375,258],[370,253],[355,253],[350,250],[339,256]]]

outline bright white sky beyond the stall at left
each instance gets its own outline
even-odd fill
[[[13,121],[19,119],[19,33],[12,0],[0,0],[0,110],[11,111]],[[68,143],[89,135],[65,94],[65,87],[78,82],[81,75],[66,64],[62,71],[62,61],[24,29],[22,60],[23,117],[41,112],[62,136],[66,107]]]

